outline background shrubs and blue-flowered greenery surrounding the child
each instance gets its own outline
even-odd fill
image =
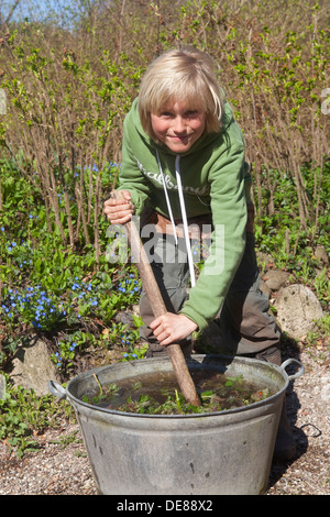
[[[260,251],[329,308],[317,254],[330,250],[326,2],[75,0],[43,20],[0,20],[3,364],[31,329],[47,333],[63,375],[90,346],[135,353],[141,322],[116,315],[140,283],[107,260],[102,205],[143,72],[186,44],[213,57],[244,131]]]

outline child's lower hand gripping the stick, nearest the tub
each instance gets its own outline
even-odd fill
[[[197,323],[187,316],[173,312],[166,312],[150,323],[150,328],[163,346],[188,338],[191,332],[197,330]]]

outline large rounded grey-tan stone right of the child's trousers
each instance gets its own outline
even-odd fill
[[[298,339],[315,328],[315,320],[322,318],[321,304],[306,286],[293,284],[283,287],[274,302],[282,330]]]

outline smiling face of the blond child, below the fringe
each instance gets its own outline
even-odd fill
[[[206,116],[201,106],[167,102],[157,113],[151,114],[153,132],[175,153],[185,153],[202,135]]]

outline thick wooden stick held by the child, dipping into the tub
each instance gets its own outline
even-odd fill
[[[123,199],[120,190],[113,190],[111,193],[113,199]],[[148,297],[154,317],[163,316],[167,312],[163,297],[161,295],[158,284],[156,283],[152,267],[150,265],[147,255],[142,245],[140,234],[135,227],[134,221],[129,221],[124,224],[128,240],[131,250],[134,250],[134,254],[139,252],[136,257],[136,267]],[[168,344],[166,346],[167,354],[172,361],[173,369],[178,382],[178,385],[183,392],[183,395],[187,403],[194,406],[200,406],[199,397],[196,393],[196,387],[189,373],[187,362],[179,344]]]

